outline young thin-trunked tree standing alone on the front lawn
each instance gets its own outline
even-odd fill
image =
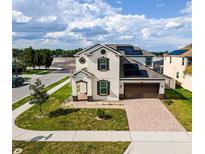
[[[49,99],[49,95],[43,89],[45,85],[42,84],[40,79],[37,79],[36,82],[30,85],[29,89],[31,90],[31,104],[39,105],[40,115],[43,115],[42,104],[46,103]]]

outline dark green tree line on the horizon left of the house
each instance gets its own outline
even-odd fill
[[[82,48],[74,50],[62,49],[33,49],[32,47],[25,49],[13,48],[13,60],[20,63],[24,68],[44,66],[46,69],[52,64],[53,57],[73,57],[74,54],[81,51]]]

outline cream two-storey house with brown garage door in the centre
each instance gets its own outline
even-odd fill
[[[126,56],[121,46],[125,45],[96,44],[75,55],[76,72],[71,76],[74,101],[164,97],[164,76]],[[137,54],[141,59],[142,52]]]

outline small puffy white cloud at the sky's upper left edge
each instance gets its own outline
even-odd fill
[[[25,16],[21,11],[12,11],[13,20],[16,22],[27,23],[32,20],[32,17]]]

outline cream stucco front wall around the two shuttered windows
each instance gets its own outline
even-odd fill
[[[99,47],[99,46],[98,46]],[[90,49],[89,52],[96,50],[98,47]],[[102,55],[101,50],[104,49],[106,54]],[[97,66],[97,59],[100,57],[109,58],[109,70],[108,71],[99,71]],[[80,64],[80,57],[86,59],[85,64]],[[106,48],[101,48],[92,53],[91,56],[83,53],[80,57],[76,57],[76,71],[87,67],[87,71],[94,74],[92,78],[92,97],[93,100],[119,100],[119,56],[116,56],[110,50]],[[110,95],[108,96],[99,96],[97,95],[97,81],[99,80],[108,80],[110,81]]]

